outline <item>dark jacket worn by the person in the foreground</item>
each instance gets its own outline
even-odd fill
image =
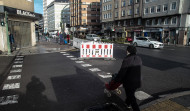
[[[128,55],[124,58],[115,81],[122,83],[124,88],[140,88],[141,66],[142,60],[139,56]]]

